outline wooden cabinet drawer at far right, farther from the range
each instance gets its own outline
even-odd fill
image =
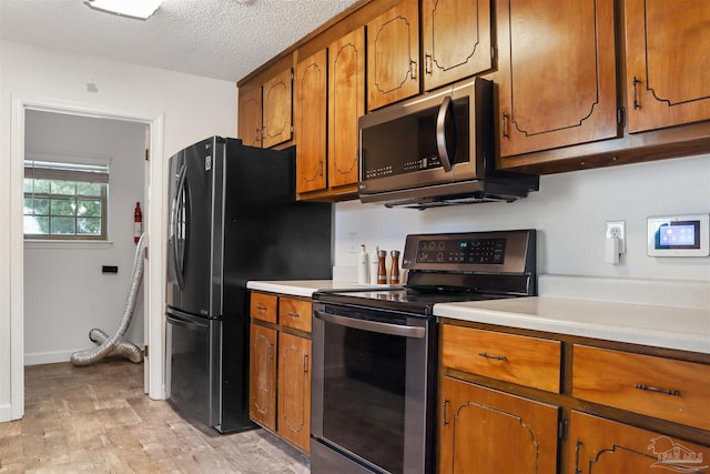
[[[575,345],[572,396],[710,430],[710,365]]]

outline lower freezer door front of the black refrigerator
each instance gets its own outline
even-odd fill
[[[168,400],[185,418],[207,426],[221,422],[220,320],[168,311]]]

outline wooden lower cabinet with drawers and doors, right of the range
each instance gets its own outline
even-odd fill
[[[710,474],[710,354],[454,320],[440,341],[440,473]]]

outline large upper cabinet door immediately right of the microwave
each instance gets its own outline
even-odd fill
[[[500,155],[618,134],[613,0],[500,0]]]

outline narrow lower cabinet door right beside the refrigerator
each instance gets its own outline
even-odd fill
[[[276,428],[276,331],[252,324],[250,344],[250,409],[256,423]]]

